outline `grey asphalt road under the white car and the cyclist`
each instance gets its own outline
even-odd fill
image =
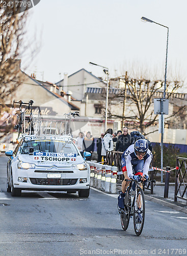
[[[6,192],[0,157],[0,255],[187,255],[187,215],[147,201],[144,230],[123,231],[117,195],[91,189],[88,199],[65,192]]]

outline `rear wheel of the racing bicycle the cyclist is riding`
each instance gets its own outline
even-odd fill
[[[130,187],[127,187],[126,195],[124,197],[124,203],[125,203],[124,211],[120,214],[121,226],[122,226],[123,230],[127,230],[128,224],[129,224],[129,220],[130,220],[129,189],[130,189]]]

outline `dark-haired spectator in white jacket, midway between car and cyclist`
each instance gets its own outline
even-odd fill
[[[113,151],[114,144],[113,144],[113,130],[108,129],[103,137],[102,147],[101,147],[101,156],[103,156],[104,161],[106,159],[106,151]]]

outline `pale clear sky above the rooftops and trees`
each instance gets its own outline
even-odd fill
[[[21,69],[53,83],[83,68],[104,77],[91,61],[111,78],[133,70],[164,80],[167,28],[144,16],[169,27],[167,78],[184,80],[186,7],[186,0],[41,0],[28,11]]]

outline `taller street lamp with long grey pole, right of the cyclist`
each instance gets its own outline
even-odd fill
[[[168,29],[168,33],[167,33],[167,46],[166,46],[166,66],[165,66],[165,79],[164,79],[164,94],[163,94],[163,98],[161,99],[161,169],[163,169],[163,137],[164,137],[164,114],[163,114],[163,100],[166,98],[166,74],[167,74],[167,59],[168,59],[168,35],[169,35],[169,28],[153,22],[153,20],[148,19],[146,17],[142,17],[142,20],[144,20],[144,22],[150,22],[150,23],[155,23],[159,26],[165,27]],[[163,172],[161,172],[161,182],[163,182]]]

